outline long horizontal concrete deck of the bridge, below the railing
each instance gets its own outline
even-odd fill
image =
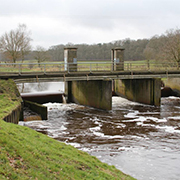
[[[123,71],[123,72],[60,72],[60,73],[0,73],[1,79],[14,79],[16,82],[48,82],[48,81],[79,81],[79,80],[116,80],[116,79],[149,79],[149,78],[177,78],[180,71]]]

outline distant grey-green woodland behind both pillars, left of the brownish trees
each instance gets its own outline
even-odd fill
[[[77,56],[78,60],[110,60],[111,59],[111,49],[116,47],[125,48],[124,58],[125,60],[144,60],[144,49],[148,44],[148,39],[142,40],[119,40],[110,43],[98,43],[98,44],[60,44],[52,46],[49,48],[49,54],[52,60],[63,60],[64,48],[68,46],[74,46],[78,48]]]

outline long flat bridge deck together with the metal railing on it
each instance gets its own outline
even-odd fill
[[[0,78],[15,81],[77,81],[180,77],[180,70],[172,63],[126,64],[124,70],[112,70],[111,62],[77,63],[76,71],[64,70],[64,63],[1,63]],[[34,68],[31,68],[33,65]],[[72,63],[67,64],[70,67]],[[43,68],[42,68],[43,67]],[[61,67],[61,68],[59,68]],[[131,68],[130,68],[131,67]]]

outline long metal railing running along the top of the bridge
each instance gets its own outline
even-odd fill
[[[118,67],[122,67],[119,69]],[[77,62],[77,63],[0,63],[0,74],[6,73],[64,73],[64,72],[112,72],[112,71],[170,71],[179,70],[176,62],[173,63],[148,63],[124,62],[114,64],[105,62]]]

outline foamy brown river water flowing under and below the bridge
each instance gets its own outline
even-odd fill
[[[24,87],[37,90],[35,85]],[[52,83],[43,90],[57,87],[63,91],[64,85]],[[22,86],[19,89],[22,92]],[[47,121],[20,124],[88,152],[138,180],[180,179],[180,98],[162,98],[161,107],[154,107],[113,97],[112,110],[107,112],[76,104],[45,105]]]

